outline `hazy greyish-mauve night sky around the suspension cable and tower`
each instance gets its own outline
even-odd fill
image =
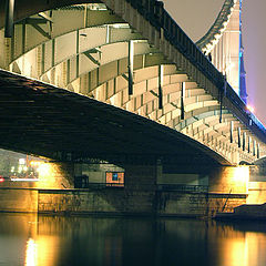
[[[163,0],[181,28],[197,41],[215,21],[224,0]],[[243,0],[243,42],[247,73],[248,104],[266,125],[266,0]]]

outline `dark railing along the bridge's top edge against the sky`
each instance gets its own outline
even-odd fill
[[[164,38],[173,44],[190,62],[195,65],[201,72],[205,74],[219,90],[224,93],[224,76],[209,62],[209,60],[202,53],[197,45],[186,35],[186,33],[172,19],[168,12],[164,9],[164,4],[157,0],[126,0],[133,8],[135,8],[161,34],[163,29]],[[257,130],[260,136],[266,141],[266,129],[247,111],[245,103],[237,95],[237,93],[227,83],[226,89],[227,99],[238,108],[243,121],[247,126],[253,125],[253,130]],[[252,123],[249,122],[252,120]],[[262,134],[263,133],[263,134]]]

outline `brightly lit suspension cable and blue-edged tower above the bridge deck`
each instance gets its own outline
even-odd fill
[[[242,43],[242,1],[226,0],[208,32],[196,42],[226,75],[235,92],[247,102],[244,48]]]

